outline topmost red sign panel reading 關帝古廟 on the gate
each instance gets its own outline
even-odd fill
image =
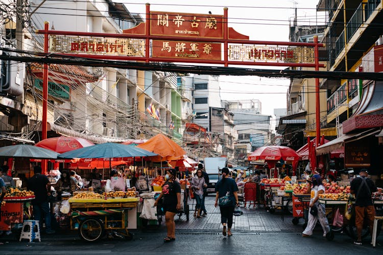
[[[150,34],[223,38],[223,15],[151,12]]]

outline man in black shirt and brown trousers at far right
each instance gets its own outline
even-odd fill
[[[364,218],[367,218],[372,236],[375,208],[371,199],[371,193],[376,191],[374,182],[367,178],[367,169],[361,169],[359,175],[360,177],[355,178],[351,182],[351,193],[355,194],[355,226],[357,231],[357,239],[354,241],[354,244],[357,245],[362,244]]]

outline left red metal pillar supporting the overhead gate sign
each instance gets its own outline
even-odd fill
[[[44,53],[48,53],[49,49],[49,22],[45,21],[44,22]],[[42,73],[42,122],[41,122],[41,139],[44,140],[46,139],[46,119],[47,119],[47,108],[48,108],[48,64],[44,64],[44,70]],[[41,161],[41,170],[42,173],[46,174],[46,167],[47,167],[47,161],[42,160]]]

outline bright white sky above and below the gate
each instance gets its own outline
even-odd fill
[[[316,15],[319,0],[119,0],[125,3],[131,13],[140,13],[145,18],[145,3],[150,3],[151,11],[181,13],[202,13],[223,15],[228,7],[229,27],[238,33],[248,35],[250,40],[289,41],[289,20],[297,8],[298,25],[322,24],[321,14]],[[323,14],[322,14],[323,15]],[[271,69],[272,67],[250,68]],[[280,69],[280,67],[273,68]],[[220,77],[221,99],[245,100],[259,99],[262,114],[273,115],[274,109],[286,108],[286,91],[290,81],[287,79],[260,77]]]

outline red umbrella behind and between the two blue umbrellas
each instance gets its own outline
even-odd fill
[[[40,142],[36,143],[35,146],[50,149],[58,153],[64,153],[70,150],[79,149],[91,145],[94,145],[94,143],[89,142],[88,140],[83,138],[59,136],[41,140]]]

